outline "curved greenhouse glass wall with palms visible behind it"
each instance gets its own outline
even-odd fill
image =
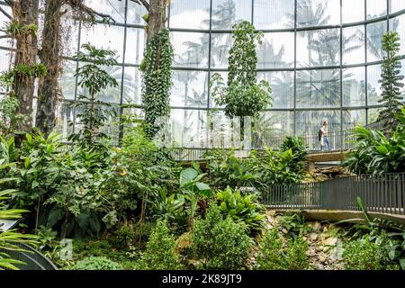
[[[77,88],[74,74],[81,63],[72,56],[86,42],[115,50],[120,63],[109,71],[120,85],[101,95],[102,101],[111,103],[106,109],[118,114],[141,113],[139,64],[146,41],[142,19],[146,11],[130,0],[85,3],[111,14],[116,23],[87,27],[65,19],[70,39],[64,49],[60,78],[64,101],[57,127],[64,135],[80,129],[69,103],[85,91]],[[0,4],[9,9],[2,1]],[[270,83],[275,101],[259,121],[261,132],[270,137],[311,137],[324,120],[329,120],[330,132],[374,122],[381,95],[378,80],[385,31],[400,34],[405,74],[404,0],[171,0],[167,16],[175,49],[171,121],[175,141],[185,147],[207,145],[210,121],[216,127],[226,127],[229,122],[211,99],[209,79],[214,72],[227,76],[232,26],[242,20],[265,35],[257,48],[258,79]],[[1,70],[10,65],[12,48],[13,43],[0,39]],[[105,127],[116,140],[122,134],[118,119]],[[75,125],[70,127],[68,121]]]

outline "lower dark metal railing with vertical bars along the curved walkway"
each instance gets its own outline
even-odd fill
[[[405,215],[405,173],[353,175],[324,182],[273,185],[261,201],[273,209],[367,211]]]

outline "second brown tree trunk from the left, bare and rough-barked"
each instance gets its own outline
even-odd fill
[[[36,126],[47,136],[56,124],[56,111],[60,89],[58,76],[60,73],[60,9],[64,0],[47,0],[45,20],[42,31],[42,49],[40,61],[48,69],[47,75],[41,81],[38,89],[38,108]]]

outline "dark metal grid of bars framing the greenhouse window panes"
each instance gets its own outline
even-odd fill
[[[121,26],[124,28],[124,37],[123,37],[123,43],[122,43],[122,63],[119,63],[118,66],[121,67],[122,69],[122,74],[121,74],[121,95],[120,95],[120,101],[119,103],[111,103],[113,105],[120,105],[120,127],[119,127],[119,142],[121,143],[121,139],[123,136],[123,129],[122,129],[122,122],[121,122],[121,115],[123,114],[123,94],[124,94],[124,76],[125,76],[125,67],[139,67],[139,63],[127,63],[126,62],[126,49],[127,49],[127,36],[128,36],[128,29],[131,28],[137,28],[137,29],[144,29],[145,25],[142,24],[132,24],[128,23],[128,11],[129,11],[129,1],[130,0],[125,0],[125,12],[124,12],[124,23],[112,23],[113,26]],[[208,33],[209,34],[209,47],[208,47],[208,67],[176,67],[174,66],[174,70],[178,71],[204,71],[208,72],[208,82],[210,82],[211,74],[213,72],[226,72],[226,68],[215,68],[211,67],[211,45],[212,45],[212,34],[216,33],[230,33],[232,30],[227,30],[227,29],[221,29],[221,30],[215,30],[212,29],[212,10],[213,10],[213,0],[207,0],[209,1],[209,29],[208,30],[199,30],[199,29],[188,29],[188,28],[176,28],[176,27],[171,27],[170,24],[170,18],[171,18],[171,5],[173,4],[174,1],[172,1],[168,8],[167,8],[167,27],[170,31],[172,32],[199,32],[199,33]],[[250,23],[254,24],[255,23],[255,0],[246,0],[246,1],[251,1],[251,15],[250,15]],[[367,19],[367,7],[368,7],[368,0],[365,0],[365,15],[364,15],[364,20],[361,22],[355,22],[355,23],[343,23],[343,0],[340,0],[340,23],[337,25],[323,25],[323,26],[309,26],[309,27],[299,27],[297,25],[297,7],[298,7],[298,1],[299,0],[294,0],[294,27],[293,28],[288,28],[288,29],[269,29],[269,30],[261,30],[265,33],[272,33],[272,32],[293,32],[293,37],[294,37],[294,63],[293,67],[277,67],[277,68],[258,68],[257,72],[280,72],[280,71],[290,71],[293,72],[293,107],[291,108],[270,108],[266,109],[266,112],[293,112],[293,134],[296,134],[296,115],[298,112],[301,111],[340,111],[340,131],[343,130],[343,112],[346,110],[365,110],[365,123],[369,124],[369,110],[370,109],[375,109],[375,108],[380,108],[381,105],[369,105],[369,94],[368,94],[368,67],[369,66],[374,66],[374,65],[379,65],[383,62],[383,60],[377,60],[374,62],[368,62],[368,57],[367,57],[367,41],[365,40],[365,63],[358,63],[358,64],[349,64],[345,65],[343,64],[343,29],[347,27],[355,27],[355,26],[364,26],[365,28],[365,38],[368,35],[367,31],[367,25],[371,23],[381,23],[386,21],[387,23],[387,31],[390,30],[390,21],[398,16],[401,16],[405,14],[405,7],[404,9],[401,9],[395,13],[391,13],[391,1],[386,0],[386,14],[373,18],[373,19]],[[0,4],[4,4],[4,1],[0,1]],[[96,21],[97,24],[102,24],[100,21]],[[81,46],[81,41],[82,41],[82,21],[78,22],[79,24],[79,31],[78,31],[78,39],[77,39],[77,46],[76,46],[76,51],[80,49]],[[334,66],[324,66],[324,67],[297,67],[297,34],[301,31],[324,31],[325,29],[339,29],[340,31],[340,59],[338,65]],[[405,42],[403,43],[405,45]],[[7,47],[0,47],[0,49],[3,50],[13,50]],[[79,62],[78,60],[71,58],[71,57],[64,57],[64,59],[69,59],[76,61],[76,67],[78,67]],[[405,59],[405,55],[401,56],[401,59]],[[346,68],[350,67],[365,67],[365,105],[360,105],[360,106],[345,106],[343,103],[343,71]],[[298,108],[297,107],[297,72],[301,70],[320,70],[320,69],[339,69],[339,74],[340,74],[340,105],[338,107],[317,107],[317,108]],[[76,102],[77,101],[77,94],[78,94],[78,79],[76,77],[76,85],[75,85],[75,92],[74,92],[74,100],[70,99],[65,99],[63,102],[64,103],[71,103],[71,102]],[[203,110],[203,111],[210,111],[213,107],[211,107],[211,89],[209,83],[206,84],[208,85],[208,91],[207,91],[207,105],[206,107],[184,107],[184,106],[172,106],[171,109],[178,110],[178,109],[183,109],[183,110]],[[134,108],[142,108],[142,105],[140,104],[129,104],[126,105],[128,107],[134,107]],[[216,110],[223,110],[220,108],[215,108]],[[73,111],[73,132],[76,130],[76,111]],[[112,135],[113,136],[113,135]]]

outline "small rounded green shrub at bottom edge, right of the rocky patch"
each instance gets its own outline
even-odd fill
[[[349,242],[343,252],[348,270],[382,270],[383,255],[380,247],[368,237]]]

